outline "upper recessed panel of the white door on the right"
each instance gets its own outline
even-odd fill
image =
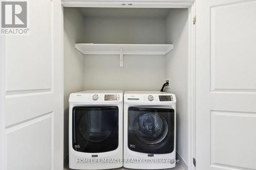
[[[256,73],[255,6],[251,1],[210,7],[211,91],[256,90],[256,79],[248,79]]]

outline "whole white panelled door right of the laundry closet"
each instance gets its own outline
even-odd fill
[[[256,1],[196,8],[196,168],[256,169]]]

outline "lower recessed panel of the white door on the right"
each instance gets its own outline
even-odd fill
[[[211,164],[255,168],[255,161],[244,157],[256,153],[256,113],[212,110],[210,114]]]

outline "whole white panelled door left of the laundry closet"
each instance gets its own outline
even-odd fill
[[[3,40],[4,163],[8,170],[62,170],[60,0],[28,1],[28,23],[29,35],[8,35]]]

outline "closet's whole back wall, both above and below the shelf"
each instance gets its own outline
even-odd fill
[[[165,43],[165,19],[86,17],[87,43]],[[165,77],[164,56],[123,57],[87,55],[84,59],[85,90],[160,90]]]

